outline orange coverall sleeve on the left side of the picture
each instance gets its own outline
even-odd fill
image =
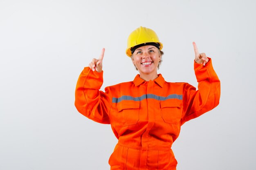
[[[85,67],[80,74],[75,91],[76,109],[84,116],[101,124],[110,124],[109,111],[112,95],[109,87],[99,91],[103,84],[103,71],[98,73]]]

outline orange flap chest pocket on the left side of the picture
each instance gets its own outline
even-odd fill
[[[123,126],[137,124],[139,121],[140,102],[133,100],[123,100],[118,103],[118,118]]]

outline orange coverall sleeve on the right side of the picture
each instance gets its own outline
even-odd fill
[[[220,80],[213,70],[211,58],[205,66],[194,62],[198,90],[190,84],[183,89],[184,115],[181,124],[194,119],[218,106],[220,101]]]

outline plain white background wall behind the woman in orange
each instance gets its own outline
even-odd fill
[[[133,80],[128,35],[153,29],[168,82],[197,86],[195,41],[221,80],[217,108],[182,126],[177,170],[256,169],[254,0],[0,0],[0,170],[108,170],[117,139],[74,107],[106,48],[106,86]]]

